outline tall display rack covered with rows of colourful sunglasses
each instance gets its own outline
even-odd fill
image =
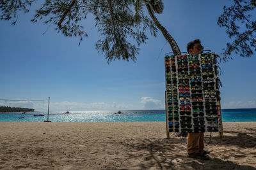
[[[218,55],[166,55],[166,121],[168,132],[220,132]]]

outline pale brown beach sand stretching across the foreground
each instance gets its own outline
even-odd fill
[[[0,169],[256,169],[256,122],[223,129],[200,160],[165,122],[0,122]]]

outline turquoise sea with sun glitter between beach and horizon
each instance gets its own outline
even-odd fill
[[[165,110],[124,110],[117,111],[64,111],[46,112],[16,112],[0,113],[0,122],[165,122]],[[256,122],[254,109],[223,109],[223,122]]]

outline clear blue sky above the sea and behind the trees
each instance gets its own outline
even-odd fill
[[[230,41],[217,21],[223,5],[231,1],[163,2],[164,11],[156,16],[182,52],[196,38],[205,49],[219,54]],[[57,33],[54,26],[47,29],[42,22],[32,24],[32,15],[33,11],[19,13],[14,26],[0,20],[1,99],[46,101],[51,97],[52,111],[164,109],[164,53],[171,49],[161,32],[157,38],[148,34],[136,62],[115,60],[108,64],[95,50],[100,34],[91,17],[84,21],[88,38],[78,46],[79,39]],[[232,57],[234,60],[220,64],[221,107],[256,108],[255,54]],[[40,108],[35,103],[17,106],[31,104]]]

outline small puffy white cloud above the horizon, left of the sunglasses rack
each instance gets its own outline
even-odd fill
[[[141,97],[140,103],[142,103],[143,108],[146,108],[146,109],[163,109],[164,108],[164,104],[161,101],[157,99],[153,99],[152,97]]]

